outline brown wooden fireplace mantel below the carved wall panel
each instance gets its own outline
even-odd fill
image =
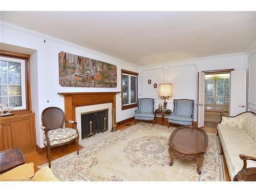
[[[116,114],[116,94],[121,92],[80,92],[80,93],[58,93],[65,100],[66,120],[76,120],[76,107],[94,104],[112,103],[112,109]],[[116,122],[116,119],[115,119]],[[66,127],[72,127],[70,123]]]

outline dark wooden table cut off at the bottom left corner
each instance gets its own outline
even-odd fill
[[[0,152],[0,174],[24,163],[24,154],[18,148],[11,148]]]

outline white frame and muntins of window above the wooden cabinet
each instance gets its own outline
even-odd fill
[[[0,56],[0,60],[20,63],[20,78],[21,78],[20,80],[21,80],[21,89],[22,89],[22,106],[13,106],[13,110],[25,110],[25,109],[27,109],[27,104],[26,104],[25,60],[24,59],[11,58],[11,57],[4,57],[4,56]],[[8,74],[9,73],[7,73],[7,81],[9,81]],[[8,85],[8,84],[6,84],[6,85]],[[15,85],[17,85],[17,84],[15,84]],[[9,86],[8,86],[8,95],[7,96],[9,97]],[[0,96],[0,97],[2,97],[2,96]],[[3,97],[6,97],[6,96],[3,96]],[[9,99],[8,99],[8,105],[9,105]]]

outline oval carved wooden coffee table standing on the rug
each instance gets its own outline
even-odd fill
[[[173,152],[181,159],[191,160],[199,157],[197,173],[200,175],[200,167],[204,161],[204,153],[208,146],[208,136],[204,130],[193,126],[181,126],[169,137],[170,163],[174,163]]]

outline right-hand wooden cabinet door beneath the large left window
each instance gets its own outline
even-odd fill
[[[26,153],[35,146],[32,116],[8,119],[6,125],[10,130],[12,147],[17,147]]]

